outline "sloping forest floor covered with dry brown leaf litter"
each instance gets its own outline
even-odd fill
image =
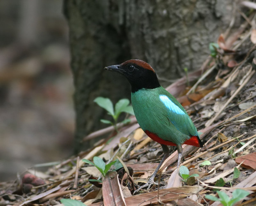
[[[137,184],[147,182],[163,152],[130,117],[131,123],[119,126],[117,134],[108,127],[85,137],[84,141],[110,133],[77,157],[47,172],[27,170],[16,180],[0,183],[0,204],[58,205],[60,199],[76,199],[86,205],[219,205],[205,196],[212,194],[213,199],[237,198],[237,205],[256,205],[256,30],[250,26],[254,15],[236,31],[220,35],[212,47],[214,57],[199,70],[167,87],[201,132],[204,147],[183,145],[181,165],[195,177],[177,175],[173,147],[156,176],[159,184],[133,194]],[[103,178],[96,167],[82,161],[95,156],[106,163],[118,157],[124,168],[111,167]],[[99,177],[103,183],[88,181]]]

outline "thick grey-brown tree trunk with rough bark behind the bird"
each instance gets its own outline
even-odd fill
[[[184,75],[184,67],[201,66],[232,11],[232,0],[65,0],[76,88],[76,152],[85,135],[104,126],[99,119],[105,113],[93,99],[130,99],[128,82],[104,71],[105,66],[142,59],[166,86]]]

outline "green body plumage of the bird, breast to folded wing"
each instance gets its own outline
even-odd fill
[[[166,107],[159,96],[167,96],[183,114]],[[182,145],[191,136],[199,136],[186,110],[163,87],[140,89],[131,96],[136,119],[143,131],[155,133],[161,139]]]

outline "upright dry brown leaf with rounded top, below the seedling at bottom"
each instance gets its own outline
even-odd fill
[[[104,205],[126,205],[116,171],[106,174],[102,183],[102,195]]]

